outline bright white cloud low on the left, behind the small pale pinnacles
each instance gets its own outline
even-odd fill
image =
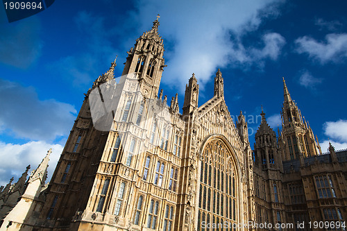
[[[30,171],[36,169],[46,156],[49,148],[52,148],[52,153],[49,158],[47,182],[56,168],[63,146],[42,141],[26,144],[5,144],[0,142],[0,185],[6,185],[12,176],[15,177],[14,182],[16,182],[29,164],[31,164]]]

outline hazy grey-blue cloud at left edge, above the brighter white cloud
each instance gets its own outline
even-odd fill
[[[0,132],[31,140],[53,140],[67,135],[76,109],[53,99],[41,101],[33,87],[0,78]]]

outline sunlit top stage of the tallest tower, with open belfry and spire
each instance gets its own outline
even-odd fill
[[[164,46],[158,33],[159,15],[150,31],[143,33],[130,51],[122,75],[135,72],[139,79],[142,94],[146,98],[158,96],[164,65]]]

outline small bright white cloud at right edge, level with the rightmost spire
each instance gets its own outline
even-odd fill
[[[339,142],[347,142],[347,120],[328,121],[323,125],[325,135]],[[347,147],[346,147],[347,148]]]

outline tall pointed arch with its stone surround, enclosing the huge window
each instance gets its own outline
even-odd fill
[[[235,149],[223,135],[210,135],[202,144],[199,152],[201,176],[198,178],[201,187],[196,201],[196,218],[198,214],[206,214],[219,221],[241,222],[242,171]],[[205,202],[208,202],[207,207]],[[202,228],[201,223],[196,225],[198,230]]]

